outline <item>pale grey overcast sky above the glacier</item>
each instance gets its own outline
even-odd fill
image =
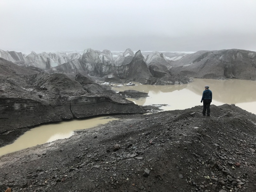
[[[0,49],[256,51],[256,0],[0,0]]]

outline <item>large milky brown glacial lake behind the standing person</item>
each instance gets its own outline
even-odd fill
[[[140,85],[113,87],[115,91],[134,89],[148,93],[149,97],[139,100],[129,99],[138,105],[167,104],[161,109],[187,109],[200,103],[204,86],[209,85],[212,90],[212,104],[232,104],[256,114],[256,82],[238,79],[215,80],[194,79],[185,85]]]

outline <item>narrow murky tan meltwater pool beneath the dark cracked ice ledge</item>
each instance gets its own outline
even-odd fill
[[[40,125],[30,129],[20,136],[14,143],[0,148],[0,156],[19,151],[36,145],[52,142],[57,139],[65,139],[74,134],[75,130],[89,129],[97,125],[106,124],[116,118],[96,117],[85,120],[72,120],[54,124]]]

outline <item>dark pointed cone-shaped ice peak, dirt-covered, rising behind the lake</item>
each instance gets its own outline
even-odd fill
[[[126,79],[146,84],[154,84],[156,82],[156,78],[150,73],[140,50],[135,53],[131,63],[128,64]]]

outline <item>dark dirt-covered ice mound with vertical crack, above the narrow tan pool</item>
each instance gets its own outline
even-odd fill
[[[144,112],[89,76],[77,74],[72,79],[61,73],[38,73],[0,58],[0,133],[6,134],[0,134],[0,146],[18,128],[74,117]]]

